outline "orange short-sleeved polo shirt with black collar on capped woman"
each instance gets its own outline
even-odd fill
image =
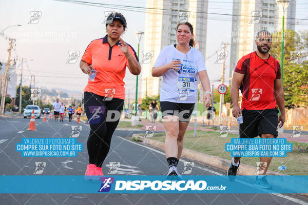
[[[120,45],[119,42],[111,47],[107,42],[107,35],[93,40],[88,45],[82,60],[92,65],[98,73],[94,81],[88,80],[85,92],[125,99],[123,78],[125,77],[128,60],[118,45]],[[136,52],[130,45],[128,45],[128,50],[132,57],[138,61]]]

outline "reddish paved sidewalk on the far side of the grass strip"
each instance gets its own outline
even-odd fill
[[[141,121],[140,124],[143,125],[143,127],[141,128],[142,130],[146,129],[145,126],[156,126],[156,131],[165,132],[165,128],[164,128],[164,125],[162,124],[162,122],[152,123],[150,121]],[[190,123],[187,127],[187,131],[194,130],[193,126],[194,126],[194,124]],[[200,128],[200,127],[197,127],[197,130],[220,132],[219,129],[213,130],[213,129]],[[230,130],[229,133],[238,134],[239,131],[238,130]],[[297,141],[297,142],[304,142],[304,143],[308,142],[308,135],[301,134],[300,137],[291,137],[291,136],[292,136],[292,133],[278,133],[278,137],[280,137],[280,138],[286,138],[287,140],[290,140],[290,141]]]

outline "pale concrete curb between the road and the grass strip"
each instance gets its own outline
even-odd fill
[[[155,140],[155,139],[150,139],[150,138],[147,138],[147,137],[143,137],[143,136],[140,136],[138,134],[133,134],[132,139],[137,140],[137,141],[142,141],[144,144],[147,144],[147,145],[150,145],[150,146],[164,150],[164,146],[165,146],[164,142],[161,142],[161,141],[158,141],[158,140]],[[213,166],[215,168],[222,169],[222,170],[228,170],[230,163],[231,163],[231,160],[223,159],[221,157],[205,154],[205,153],[202,153],[202,152],[197,152],[197,151],[194,151],[194,150],[189,150],[189,149],[186,149],[186,148],[183,148],[182,156],[185,156],[187,158],[199,161],[201,163],[205,163],[206,165]],[[241,163],[241,169],[238,171],[238,174],[239,175],[256,175],[257,176],[257,174],[255,174],[256,169],[257,169],[257,167],[250,166],[250,165],[244,165],[244,164]],[[287,174],[282,174],[282,173],[274,172],[274,171],[267,171],[267,173],[269,175],[287,176]],[[294,177],[296,177],[296,176],[294,176]],[[270,183],[271,182],[272,181],[270,181]],[[293,181],[290,181],[290,184],[292,184],[292,182]],[[307,181],[301,181],[301,183],[302,183],[302,186],[307,186],[308,182]],[[276,181],[273,181],[272,185],[279,186],[279,184],[277,184]],[[300,193],[300,195],[308,196],[308,193]]]

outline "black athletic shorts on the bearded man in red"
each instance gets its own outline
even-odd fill
[[[240,138],[253,138],[261,134],[278,136],[278,109],[242,110],[243,123],[240,124]]]

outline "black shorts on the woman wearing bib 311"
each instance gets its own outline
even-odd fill
[[[180,122],[189,122],[194,103],[171,103],[169,101],[160,102],[162,117],[175,115],[180,118]]]

